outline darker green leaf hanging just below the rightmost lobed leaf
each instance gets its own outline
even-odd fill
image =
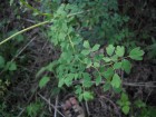
[[[129,74],[131,69],[131,64],[128,60],[124,59],[121,61],[121,69]]]

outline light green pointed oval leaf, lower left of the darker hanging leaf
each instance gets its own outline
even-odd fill
[[[121,84],[120,77],[117,74],[115,74],[111,80],[111,86],[115,88],[119,88],[120,84]]]

